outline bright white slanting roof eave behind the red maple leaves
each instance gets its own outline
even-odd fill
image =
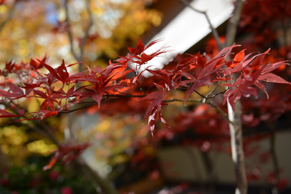
[[[190,3],[197,10],[205,11],[214,28],[220,26],[232,15],[233,0],[194,0]],[[162,47],[173,50],[148,61],[147,65],[162,68],[177,54],[184,53],[211,32],[210,25],[203,13],[186,7],[162,31],[157,33],[149,42],[163,39],[145,53],[151,54]]]

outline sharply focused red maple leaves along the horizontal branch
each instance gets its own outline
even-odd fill
[[[190,55],[177,63],[172,70],[150,69],[146,63],[167,52],[158,50],[152,54],[145,54],[148,47],[159,41],[161,40],[155,40],[145,47],[139,39],[136,48],[128,48],[130,54],[119,56],[120,58],[115,63],[109,62],[104,70],[86,66],[87,70],[83,72],[69,74],[67,68],[77,63],[66,66],[63,60],[60,66],[53,68],[45,63],[46,57],[42,60],[31,59],[29,63],[7,62],[5,68],[1,70],[0,96],[2,99],[0,102],[16,104],[17,99],[20,98],[39,98],[43,101],[37,112],[24,113],[24,110],[18,110],[18,114],[15,114],[15,110],[12,113],[13,110],[8,111],[7,106],[7,110],[0,109],[0,117],[25,117],[17,121],[44,119],[59,113],[75,111],[69,108],[70,105],[84,103],[89,98],[93,99],[91,105],[97,104],[100,107],[101,102],[109,97],[133,97],[139,98],[138,101],[149,102],[144,120],[149,116],[148,126],[153,134],[157,116],[168,126],[162,116],[161,107],[168,105],[167,101],[171,101],[167,99],[170,91],[185,90],[183,101],[186,104],[188,97],[196,92],[197,88],[210,86],[216,82],[227,87],[226,91],[219,92],[217,95],[224,93],[224,103],[228,101],[234,108],[235,102],[242,96],[258,96],[255,86],[262,89],[268,97],[262,81],[291,84],[271,73],[281,65],[288,64],[288,61],[263,63],[269,50],[250,57],[252,54],[245,55],[245,49],[243,49],[233,59],[226,60],[226,57],[231,55],[231,50],[240,45],[226,47],[215,57],[207,60],[200,54]],[[43,69],[48,72],[42,73]],[[159,79],[150,86],[155,88],[155,91],[148,94],[143,88],[140,88],[139,93],[132,91],[133,86],[141,87],[141,77],[145,71]],[[235,76],[238,78],[235,79]],[[18,82],[15,83],[15,80]],[[235,81],[230,82],[231,80]],[[204,102],[210,98],[203,95],[201,97],[204,98]],[[31,117],[27,116],[31,114],[33,114]]]

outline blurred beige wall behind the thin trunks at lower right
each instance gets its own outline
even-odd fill
[[[229,143],[224,143],[227,148]],[[215,145],[213,146],[215,147]],[[249,150],[258,150],[246,157],[246,166],[254,173],[261,173],[260,181],[253,181],[251,184],[266,184],[267,175],[272,171],[272,161],[262,163],[260,153],[270,149],[269,138],[264,138],[247,145]],[[253,148],[253,149],[252,149]],[[280,131],[276,134],[276,152],[280,168],[283,172],[281,178],[291,180],[291,130]],[[225,151],[210,151],[210,161],[215,170],[217,182],[221,184],[234,184],[234,168],[230,153]],[[158,157],[165,177],[171,181],[207,181],[207,170],[204,165],[202,154],[197,147],[169,147],[160,149]],[[261,169],[261,172],[256,168]],[[290,185],[290,184],[289,184]]]

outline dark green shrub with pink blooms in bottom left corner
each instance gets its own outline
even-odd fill
[[[53,169],[43,171],[47,157],[31,156],[27,165],[22,167],[2,168],[0,174],[1,194],[72,194],[94,193],[88,176],[69,165],[57,164]]]

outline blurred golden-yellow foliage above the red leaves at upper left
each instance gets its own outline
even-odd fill
[[[86,3],[85,0],[68,1],[69,27],[76,53],[80,52],[79,40],[89,25]],[[143,1],[90,1],[89,10],[93,25],[88,31],[84,52],[84,62],[88,65],[108,65],[108,58],[115,58],[112,53],[118,55],[127,46],[133,46],[143,32],[158,26],[162,20],[162,15],[146,9]],[[76,62],[65,26],[66,10],[59,1],[16,1],[14,6],[7,3],[0,6],[0,17],[3,18],[0,20],[3,23],[0,63],[11,59],[29,62],[30,58],[44,54],[51,57],[50,65],[62,59],[67,64]]]

